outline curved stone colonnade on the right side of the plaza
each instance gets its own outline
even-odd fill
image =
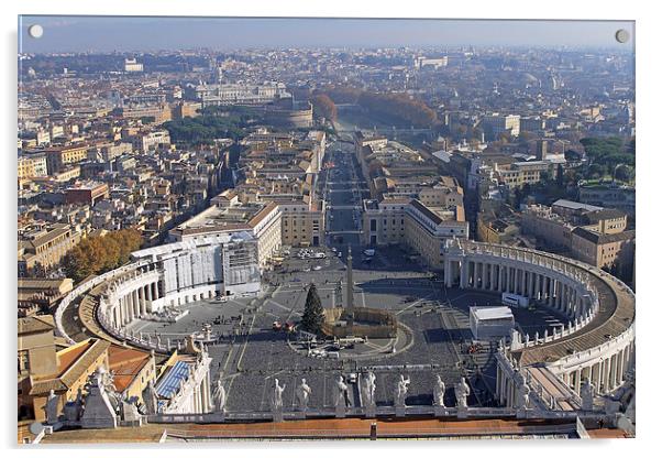
[[[607,394],[633,369],[635,294],[597,268],[537,250],[452,240],[445,247],[444,284],[523,295],[567,318],[543,336],[512,332],[497,374],[496,395],[505,405],[516,403],[512,375],[520,369],[530,369],[527,381],[548,406],[570,400],[574,408],[583,383]]]

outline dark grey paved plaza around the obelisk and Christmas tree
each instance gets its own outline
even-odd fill
[[[278,272],[266,275],[271,284],[265,283],[263,297],[201,301],[184,306],[189,313],[177,323],[139,320],[130,329],[159,334],[162,340],[183,340],[187,335],[201,332],[205,324],[211,325],[212,336],[218,337],[217,342],[208,346],[213,358],[211,378],[213,382],[222,378],[230,412],[268,411],[268,393],[275,378],[285,384],[286,408],[294,407],[295,388],[301,378],[312,389],[310,407],[330,407],[334,379],[343,374],[349,380],[351,374],[366,368],[377,377],[377,405],[393,404],[400,372],[411,378],[408,405],[431,404],[438,373],[446,383],[450,405],[454,403],[452,385],[462,375],[473,389],[470,403],[490,405],[495,347],[484,346],[483,351],[467,352],[472,342],[468,307],[497,305],[499,295],[445,291],[441,282],[420,268],[389,262],[402,259],[399,249],[379,250],[369,268],[361,263],[354,268],[354,304],[394,313],[400,325],[397,341],[368,341],[362,346],[364,349],[358,349],[357,358],[351,357],[356,349],[340,350],[338,359],[311,357],[296,342],[296,335],[273,330],[273,323],[299,321],[311,282],[316,283],[324,307],[341,306],[346,288],[345,258],[339,259],[327,250],[326,260],[300,260],[294,257],[296,251]],[[315,265],[321,270],[312,270]],[[542,334],[545,327],[551,329],[560,324],[560,317],[545,309],[516,309],[515,315],[528,331]],[[355,383],[350,386],[350,399],[355,405],[357,388]]]

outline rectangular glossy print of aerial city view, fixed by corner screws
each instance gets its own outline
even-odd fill
[[[636,436],[633,29],[31,24],[20,443]]]

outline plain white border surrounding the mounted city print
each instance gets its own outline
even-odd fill
[[[591,448],[586,448],[586,441],[471,441],[471,443],[437,443],[437,441],[393,441],[393,443],[315,443],[315,444],[294,444],[294,443],[251,443],[251,444],[214,444],[208,446],[206,444],[187,445],[186,447],[159,449],[159,454],[165,456],[181,456],[188,451],[188,448],[195,447],[195,454],[200,452],[207,455],[218,455],[218,448],[224,449],[241,449],[247,451],[253,449],[262,454],[268,454],[269,457],[291,456],[293,452],[311,454],[340,454],[356,451],[358,454],[371,454],[374,447],[379,449],[379,454],[386,456],[400,456],[407,452],[411,447],[417,448],[417,452],[445,455],[449,452],[479,452],[486,455],[508,455],[512,454],[530,454],[537,456],[554,456],[567,454],[569,448],[584,448],[584,450],[573,450],[574,454],[599,454],[600,456],[611,455],[630,455],[646,454],[654,446],[651,438],[655,438],[654,429],[658,426],[658,415],[653,413],[653,406],[659,400],[658,375],[660,373],[660,364],[657,363],[657,357],[660,347],[657,345],[659,340],[654,336],[659,334],[660,306],[659,293],[653,288],[655,285],[655,276],[658,272],[655,252],[659,252],[657,239],[660,237],[657,229],[657,222],[661,220],[658,216],[658,201],[655,196],[659,190],[655,187],[658,171],[660,167],[660,146],[657,135],[659,130],[659,115],[655,112],[659,109],[659,75],[660,75],[660,56],[658,46],[662,42],[659,23],[660,15],[655,14],[654,2],[622,2],[615,0],[603,0],[599,2],[581,2],[577,0],[555,0],[544,2],[511,0],[508,2],[495,2],[489,0],[478,0],[467,2],[433,2],[421,0],[408,0],[406,2],[390,2],[386,4],[383,1],[356,1],[356,0],[335,0],[333,2],[321,1],[296,1],[296,0],[278,0],[278,1],[217,1],[211,0],[113,0],[111,2],[81,2],[80,0],[21,0],[12,2],[13,4],[4,4],[2,22],[4,25],[4,37],[8,39],[4,44],[5,63],[10,64],[4,67],[1,73],[4,87],[4,109],[2,113],[2,132],[4,135],[3,144],[5,155],[4,163],[0,170],[2,171],[2,196],[5,199],[3,206],[4,211],[13,211],[15,215],[15,156],[13,156],[13,148],[15,142],[15,119],[16,119],[16,17],[18,14],[131,14],[131,15],[234,15],[234,17],[363,17],[363,18],[453,18],[453,19],[585,19],[585,20],[636,20],[637,21],[637,92],[638,105],[638,123],[637,131],[639,133],[639,201],[641,209],[638,217],[638,288],[637,294],[640,297],[639,312],[643,314],[639,317],[638,345],[637,351],[640,356],[640,361],[647,363],[639,364],[639,425],[637,427],[636,440],[603,440],[591,441]],[[13,8],[12,8],[13,7]],[[648,211],[644,211],[648,210]],[[11,217],[5,220],[11,221]],[[15,298],[15,273],[16,263],[14,258],[15,249],[15,227],[12,222],[2,226],[4,233],[3,248],[7,253],[3,253],[3,275],[2,288],[4,294],[3,313],[5,319],[2,320],[4,326],[3,332],[4,349],[3,356],[7,360],[2,360],[3,368],[11,368],[5,373],[9,374],[7,390],[4,391],[5,405],[13,405],[15,389],[13,385],[13,368],[15,355],[15,320],[13,301]],[[7,364],[7,366],[4,366]],[[7,447],[15,448],[15,417],[12,407],[4,410],[5,415],[2,422],[2,432],[7,434]],[[443,446],[443,449],[438,447]],[[97,456],[113,456],[117,457],[118,448],[126,448],[128,446],[102,447],[93,454]],[[135,445],[133,447],[136,447]],[[368,448],[369,447],[369,448]],[[406,448],[405,448],[406,447]],[[472,448],[470,450],[470,447]],[[474,449],[477,447],[478,449]],[[515,450],[514,448],[518,448]],[[522,447],[520,449],[520,447]],[[650,448],[649,448],[650,447]],[[58,447],[59,448],[59,447]],[[331,450],[330,450],[331,448]],[[185,451],[186,450],[186,451]],[[42,450],[24,450],[22,454],[56,454],[63,450],[43,449]],[[233,450],[234,451],[234,450]],[[236,450],[239,451],[239,450]],[[89,456],[90,451],[76,448],[73,451],[67,451],[71,456]],[[647,454],[648,455],[648,454]],[[647,456],[643,455],[643,456]],[[652,455],[652,454],[651,454]]]

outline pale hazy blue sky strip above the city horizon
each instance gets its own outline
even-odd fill
[[[44,35],[26,30],[38,23]],[[21,17],[21,52],[157,51],[209,47],[519,45],[633,50],[633,23],[609,21],[369,20]]]

